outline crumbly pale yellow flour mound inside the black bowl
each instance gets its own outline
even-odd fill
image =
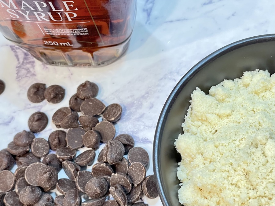
[[[175,146],[181,204],[275,205],[275,75],[244,72],[199,88]]]

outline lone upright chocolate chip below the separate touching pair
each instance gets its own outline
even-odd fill
[[[41,132],[48,125],[48,117],[43,112],[35,112],[33,113],[29,120],[28,126],[31,132],[37,133]]]

